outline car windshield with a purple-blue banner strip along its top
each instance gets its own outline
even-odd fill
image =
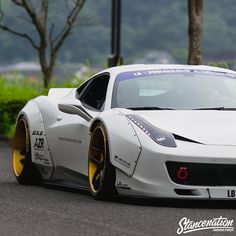
[[[236,78],[205,70],[124,72],[116,77],[112,107],[129,109],[236,108]]]

